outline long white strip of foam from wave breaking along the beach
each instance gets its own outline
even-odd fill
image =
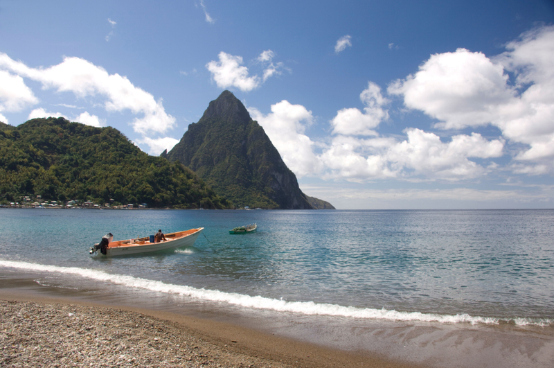
[[[361,319],[386,319],[392,321],[422,321],[440,322],[449,324],[470,323],[470,324],[499,324],[501,319],[494,317],[479,317],[467,314],[461,315],[438,315],[433,313],[399,312],[397,310],[356,308],[353,306],[339,306],[337,304],[321,304],[313,301],[285,301],[268,297],[243,295],[234,292],[222,292],[219,290],[206,290],[204,288],[193,288],[190,286],[173,285],[161,281],[153,281],[132,277],[122,274],[109,274],[102,270],[91,270],[87,268],[60,267],[55,265],[40,265],[20,261],[0,260],[0,266],[5,268],[17,268],[20,270],[32,270],[37,272],[53,272],[60,274],[74,274],[87,279],[114,283],[130,288],[139,288],[154,292],[162,292],[171,295],[181,295],[202,301],[223,302],[245,308],[256,308],[264,310],[275,310],[278,312],[300,313],[303,315],[328,315],[337,317],[351,317]],[[548,326],[554,324],[554,320],[541,319],[531,320],[527,318],[514,318],[508,321],[520,326],[538,325]]]

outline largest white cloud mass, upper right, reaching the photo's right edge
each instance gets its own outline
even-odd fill
[[[511,143],[520,173],[554,171],[554,26],[526,32],[494,58],[458,49],[431,55],[418,73],[388,87],[404,104],[438,119],[436,128],[494,125]],[[515,76],[509,78],[508,72]],[[546,169],[545,169],[546,168]]]

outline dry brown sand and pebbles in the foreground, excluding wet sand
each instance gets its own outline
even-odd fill
[[[29,310],[33,311],[32,315]],[[0,311],[4,316],[0,322],[0,344],[3,344],[0,347],[0,362],[3,367],[19,367],[31,358],[35,362],[37,359],[48,362],[51,350],[57,348],[44,349],[44,344],[46,341],[59,341],[60,336],[73,339],[56,350],[57,358],[60,361],[62,358],[69,360],[64,365],[82,367],[117,362],[133,367],[143,366],[148,365],[148,356],[156,355],[158,360],[163,359],[164,364],[154,362],[152,367],[421,367],[372,356],[367,352],[350,353],[320,347],[226,322],[145,308],[108,306],[67,297],[39,296],[29,290],[0,289]],[[75,322],[78,319],[86,319],[84,329],[81,322]],[[25,327],[25,321],[30,322],[30,326]],[[129,321],[133,322],[129,324]],[[136,321],[145,323],[138,324]],[[56,326],[54,330],[52,325]],[[124,335],[120,333],[123,326]],[[96,332],[94,341],[89,331]],[[33,333],[41,336],[43,346],[38,350]],[[128,341],[131,338],[133,342]],[[124,347],[135,348],[98,348],[104,351],[100,356],[89,349],[93,342],[96,342],[95,346],[102,347],[116,340]],[[10,349],[15,344],[18,349]],[[30,352],[31,356],[21,351]],[[72,351],[89,353],[74,356]],[[190,362],[193,364],[190,365]]]

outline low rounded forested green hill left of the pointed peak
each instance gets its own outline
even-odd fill
[[[230,206],[189,168],[147,155],[118,130],[63,118],[0,124],[0,202],[27,195],[148,207]]]

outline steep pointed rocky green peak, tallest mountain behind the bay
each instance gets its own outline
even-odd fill
[[[237,207],[314,208],[263,128],[230,91],[211,101],[202,119],[162,155],[194,170]]]

